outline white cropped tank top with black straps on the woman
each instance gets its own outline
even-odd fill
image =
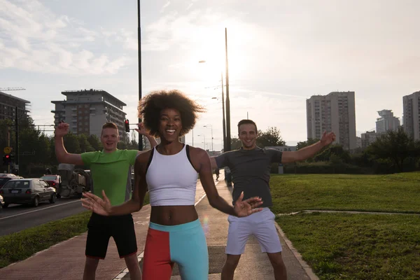
[[[194,205],[197,171],[189,160],[189,146],[175,155],[162,155],[153,148],[146,171],[151,206]]]

